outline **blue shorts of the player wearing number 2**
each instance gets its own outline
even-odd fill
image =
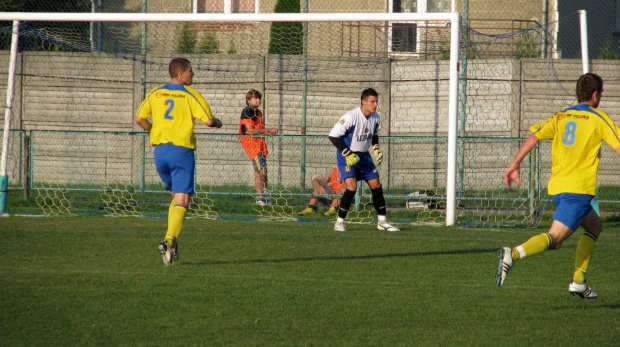
[[[194,194],[194,150],[164,143],[155,146],[155,168],[166,190]]]

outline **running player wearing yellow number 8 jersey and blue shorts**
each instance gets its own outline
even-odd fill
[[[601,159],[601,145],[605,141],[620,156],[620,129],[609,116],[597,109],[603,93],[603,79],[586,73],[577,81],[579,104],[555,113],[545,122],[530,127],[532,135],[521,145],[514,161],[504,174],[504,183],[510,189],[513,181],[521,186],[519,164],[536,147],[538,141],[552,140],[551,178],[547,190],[556,205],[549,231],[536,235],[523,244],[499,250],[499,264],[495,279],[504,284],[515,261],[558,249],[581,225],[585,232],[575,252],[575,271],[568,291],[586,299],[598,294],[586,282],[594,243],[603,224],[590,204],[595,196],[596,174]]]

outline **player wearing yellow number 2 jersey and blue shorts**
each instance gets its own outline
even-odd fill
[[[158,246],[164,265],[172,265],[179,258],[177,238],[194,194],[194,120],[222,127],[202,95],[190,87],[194,71],[189,60],[172,59],[168,72],[170,83],[153,88],[136,113],[136,123],[150,133],[157,173],[172,193],[166,238]],[[152,124],[149,118],[153,118]]]

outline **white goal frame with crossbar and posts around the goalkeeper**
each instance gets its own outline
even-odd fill
[[[448,153],[446,163],[446,211],[445,224],[456,223],[457,184],[457,107],[459,98],[459,13],[256,13],[256,14],[208,14],[208,13],[0,13],[0,21],[49,21],[49,22],[450,22],[449,56],[449,108]],[[13,43],[15,44],[15,43]],[[13,59],[13,58],[12,58]],[[12,76],[9,76],[9,82]],[[11,96],[7,95],[7,101]],[[7,105],[9,103],[7,102]],[[4,128],[5,136],[9,129]],[[7,146],[3,146],[3,152]],[[4,155],[2,158],[6,158]],[[2,163],[6,166],[6,163]],[[6,170],[5,170],[6,171]],[[6,176],[6,172],[1,173]],[[5,197],[6,198],[6,197]]]

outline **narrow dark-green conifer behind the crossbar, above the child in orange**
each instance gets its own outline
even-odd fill
[[[275,13],[299,13],[299,0],[278,0]],[[274,22],[271,24],[269,54],[303,54],[303,26],[300,22]]]

